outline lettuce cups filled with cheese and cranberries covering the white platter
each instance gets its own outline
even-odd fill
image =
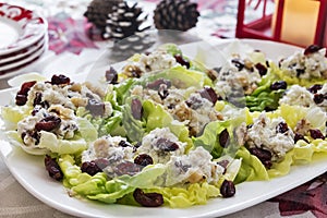
[[[327,157],[324,104],[280,104],[290,85],[313,81],[287,77],[259,51],[219,69],[209,76],[168,44],[126,60],[105,93],[64,75],[23,83],[1,118],[11,142],[46,156],[70,195],[107,204],[202,205]]]

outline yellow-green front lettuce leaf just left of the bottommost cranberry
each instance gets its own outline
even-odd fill
[[[147,166],[133,177],[122,175],[108,181],[104,172],[98,172],[93,177],[82,172],[71,155],[62,155],[58,162],[64,174],[63,183],[71,189],[73,195],[107,204],[116,203],[117,199],[134,192],[136,187],[156,187],[157,179],[166,172],[164,165]]]

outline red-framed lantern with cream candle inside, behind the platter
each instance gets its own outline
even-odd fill
[[[315,44],[327,47],[327,0],[239,0],[238,38],[258,38],[302,47]],[[268,7],[269,5],[269,7]],[[275,7],[272,12],[267,9]],[[246,20],[249,10],[262,15]]]

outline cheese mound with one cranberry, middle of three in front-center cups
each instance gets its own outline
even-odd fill
[[[186,143],[180,142],[169,128],[157,128],[143,137],[137,153],[149,155],[154,164],[166,164],[171,156],[184,154],[185,146]]]

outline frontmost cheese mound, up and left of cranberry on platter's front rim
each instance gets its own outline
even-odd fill
[[[187,155],[171,156],[167,162],[166,185],[206,181],[216,183],[225,168],[211,161],[213,157],[203,147],[196,147]]]

